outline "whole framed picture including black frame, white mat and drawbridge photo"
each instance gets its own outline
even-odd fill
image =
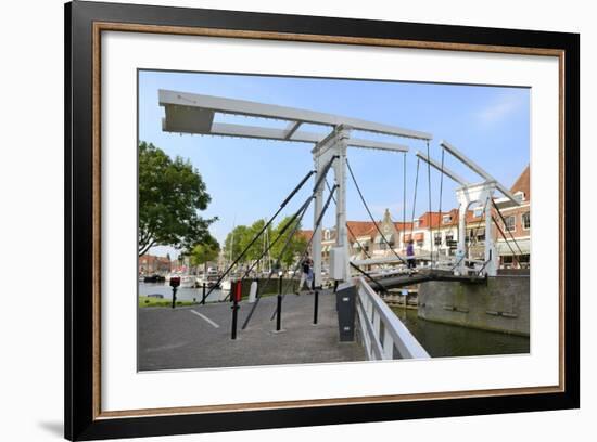
[[[66,438],[580,406],[577,34],[65,17]]]

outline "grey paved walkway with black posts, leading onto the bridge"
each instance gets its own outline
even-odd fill
[[[282,333],[274,333],[276,297],[262,298],[247,328],[251,309],[242,302],[237,340],[230,339],[231,303],[191,308],[141,308],[138,315],[140,370],[232,367],[363,361],[357,342],[339,342],[335,295],[319,295],[319,323],[313,325],[314,296],[287,295]]]

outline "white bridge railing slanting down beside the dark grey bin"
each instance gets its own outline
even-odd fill
[[[363,277],[356,278],[356,311],[367,356],[425,359],[428,352]]]

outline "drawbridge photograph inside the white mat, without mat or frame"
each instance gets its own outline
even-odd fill
[[[532,352],[529,87],[139,68],[137,156],[138,372]]]

